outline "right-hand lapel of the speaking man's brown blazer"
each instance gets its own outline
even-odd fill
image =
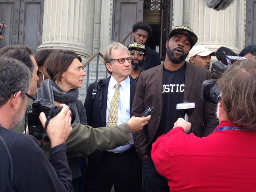
[[[192,79],[194,75],[195,67],[193,64],[186,62],[186,72],[185,72],[185,90],[183,101],[186,101],[189,97],[189,92],[191,89]]]

